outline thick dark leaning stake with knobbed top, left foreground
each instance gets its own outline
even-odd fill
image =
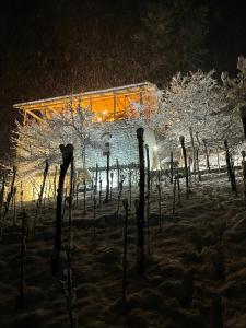
[[[62,164],[60,165],[60,176],[58,181],[57,190],[57,208],[56,208],[56,233],[54,238],[54,250],[51,258],[51,272],[56,274],[58,271],[58,260],[61,248],[61,225],[62,225],[62,198],[63,198],[63,186],[65,178],[68,167],[73,159],[73,145],[72,144],[60,144],[60,151],[62,154]]]

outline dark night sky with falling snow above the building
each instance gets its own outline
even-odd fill
[[[160,84],[156,71],[149,69],[155,61],[155,47],[150,50],[132,37],[143,30],[148,5],[157,2],[168,0],[10,0],[1,4],[1,144],[9,144],[16,117],[11,106],[16,102],[144,80]],[[208,8],[208,52],[197,68],[235,73],[237,56],[246,55],[245,1],[188,2]],[[181,70],[178,63],[173,70],[177,69]],[[166,77],[162,73],[163,79],[171,73],[175,73],[172,68]]]

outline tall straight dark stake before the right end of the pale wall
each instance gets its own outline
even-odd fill
[[[139,207],[137,211],[138,222],[138,271],[140,274],[144,272],[144,186],[145,186],[145,174],[144,174],[144,151],[143,151],[143,128],[137,130],[137,138],[139,143]]]

